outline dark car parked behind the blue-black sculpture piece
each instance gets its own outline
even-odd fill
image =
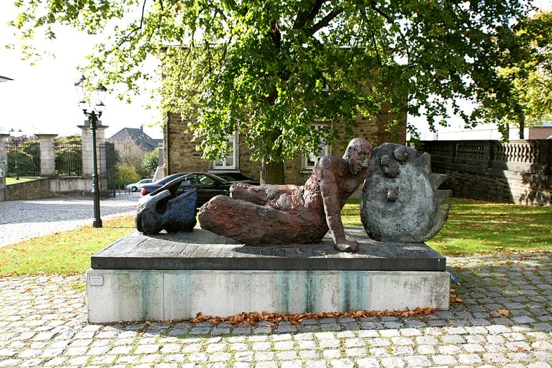
[[[157,182],[151,184],[145,184],[142,186],[141,194],[146,195],[157,191],[157,189],[164,186],[164,184],[170,182],[171,180],[186,175],[188,173],[177,173],[164,177],[163,179],[157,180]],[[192,173],[194,177],[192,180],[184,180],[178,188],[177,194],[184,193],[184,191],[189,188],[197,189],[197,206],[202,206],[204,203],[208,202],[215,195],[229,195],[230,186],[233,183],[230,183],[223,178],[211,174],[211,173]]]

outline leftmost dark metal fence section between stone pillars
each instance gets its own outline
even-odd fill
[[[7,144],[8,170],[6,176],[40,175],[39,142],[10,142]]]

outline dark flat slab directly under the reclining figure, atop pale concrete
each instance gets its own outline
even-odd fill
[[[92,255],[92,269],[444,271],[446,258],[424,243],[377,242],[362,226],[348,226],[357,253],[320,244],[246,246],[203,229],[144,235],[134,231]]]

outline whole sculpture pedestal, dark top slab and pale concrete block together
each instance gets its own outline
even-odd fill
[[[92,256],[90,322],[242,312],[449,308],[445,259],[426,244],[380,243],[347,229],[359,253],[322,244],[244,246],[208,231],[131,233]]]

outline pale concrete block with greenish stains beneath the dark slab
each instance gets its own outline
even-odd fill
[[[181,320],[198,312],[449,309],[446,271],[107,270],[86,273],[88,320]]]

